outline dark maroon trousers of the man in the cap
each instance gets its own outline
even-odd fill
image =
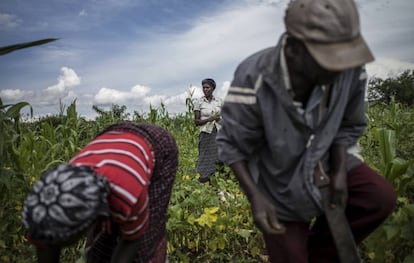
[[[348,173],[348,201],[345,214],[359,244],[393,211],[396,196],[392,186],[366,164]],[[264,235],[272,263],[339,262],[325,216],[309,223],[283,222],[286,233]]]

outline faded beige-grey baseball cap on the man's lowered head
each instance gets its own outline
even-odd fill
[[[374,60],[353,0],[291,0],[285,26],[325,69],[342,71]]]

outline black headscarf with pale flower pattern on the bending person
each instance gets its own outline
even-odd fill
[[[35,241],[66,241],[98,216],[109,216],[108,192],[106,179],[90,167],[61,164],[46,171],[27,196],[23,224]]]

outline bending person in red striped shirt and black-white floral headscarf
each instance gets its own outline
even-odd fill
[[[61,248],[87,232],[87,262],[165,262],[177,158],[168,132],[126,122],[43,173],[23,207],[38,262],[59,262]]]

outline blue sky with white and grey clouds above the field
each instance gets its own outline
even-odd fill
[[[364,38],[376,60],[370,77],[414,69],[414,1],[356,0]],[[3,104],[27,101],[35,116],[58,114],[76,99],[146,113],[169,113],[202,96],[213,78],[223,98],[237,65],[274,46],[287,0],[1,0],[0,46],[59,38],[0,56]]]

